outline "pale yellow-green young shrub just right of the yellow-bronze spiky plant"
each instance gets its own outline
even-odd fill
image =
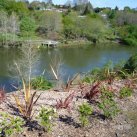
[[[38,115],[38,119],[40,121],[40,125],[42,125],[47,132],[51,131],[52,129],[52,118],[56,116],[55,110],[52,109],[47,109],[42,107],[40,110],[40,113]]]

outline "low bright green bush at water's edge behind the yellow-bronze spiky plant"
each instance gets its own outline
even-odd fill
[[[44,76],[39,76],[31,81],[31,86],[36,90],[47,90],[52,88],[52,83],[47,81]]]

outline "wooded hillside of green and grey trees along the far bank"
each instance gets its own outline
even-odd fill
[[[106,15],[106,18],[103,17]],[[137,45],[137,11],[93,8],[47,2],[0,0],[0,42],[26,39],[88,40],[93,43],[120,38]]]

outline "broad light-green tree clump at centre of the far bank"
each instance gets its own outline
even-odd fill
[[[95,14],[94,14],[95,15]],[[63,18],[64,35],[68,39],[88,39],[96,43],[99,38],[103,38],[103,34],[107,28],[105,23],[98,16],[78,16],[75,12],[71,12]]]

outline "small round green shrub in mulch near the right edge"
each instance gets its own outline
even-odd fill
[[[123,87],[120,90],[120,98],[126,98],[126,97],[130,97],[132,95],[132,89],[128,88],[128,87]]]

